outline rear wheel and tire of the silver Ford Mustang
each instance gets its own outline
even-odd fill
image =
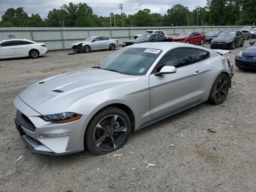
[[[215,105],[222,104],[228,95],[229,85],[230,79],[228,76],[223,73],[220,74],[212,85],[208,101]]]

